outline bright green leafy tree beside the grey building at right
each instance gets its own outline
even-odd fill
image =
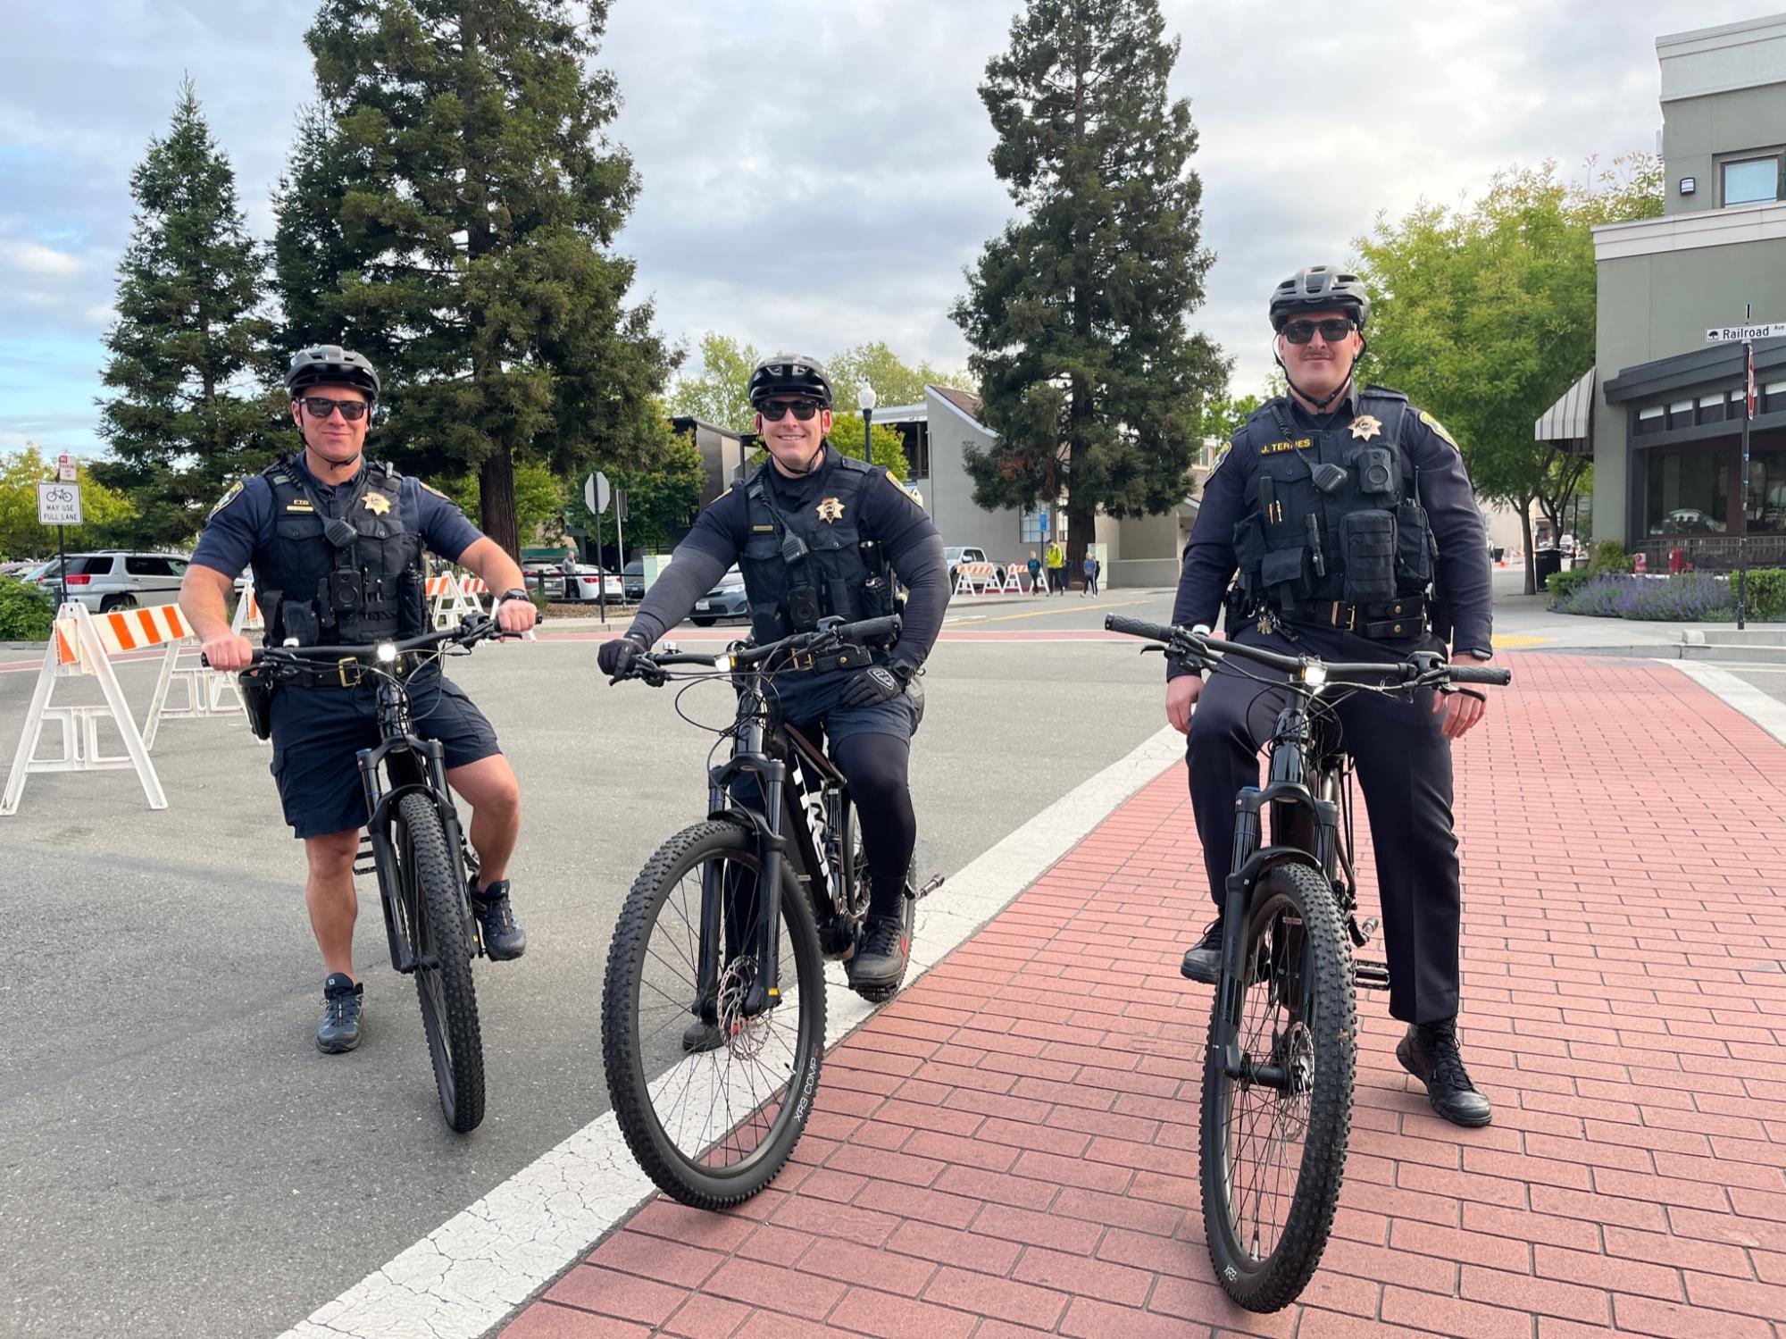
[[[1532,423],[1595,357],[1593,229],[1661,212],[1661,162],[1615,159],[1593,187],[1556,164],[1504,171],[1466,207],[1420,204],[1356,239],[1372,287],[1372,380],[1406,391],[1461,445],[1481,496],[1513,505],[1536,591],[1532,503],[1561,534],[1591,461]]]

